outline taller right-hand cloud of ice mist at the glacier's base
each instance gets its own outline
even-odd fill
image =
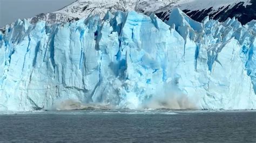
[[[165,84],[163,88],[158,89],[158,95],[152,96],[146,102],[144,108],[150,109],[199,109],[197,101],[199,97],[188,97],[181,92],[176,85]]]

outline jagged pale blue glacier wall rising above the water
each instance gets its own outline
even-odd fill
[[[70,100],[256,109],[255,35],[255,20],[198,23],[179,9],[166,22],[135,11],[53,25],[17,20],[0,33],[0,111],[51,110]]]

